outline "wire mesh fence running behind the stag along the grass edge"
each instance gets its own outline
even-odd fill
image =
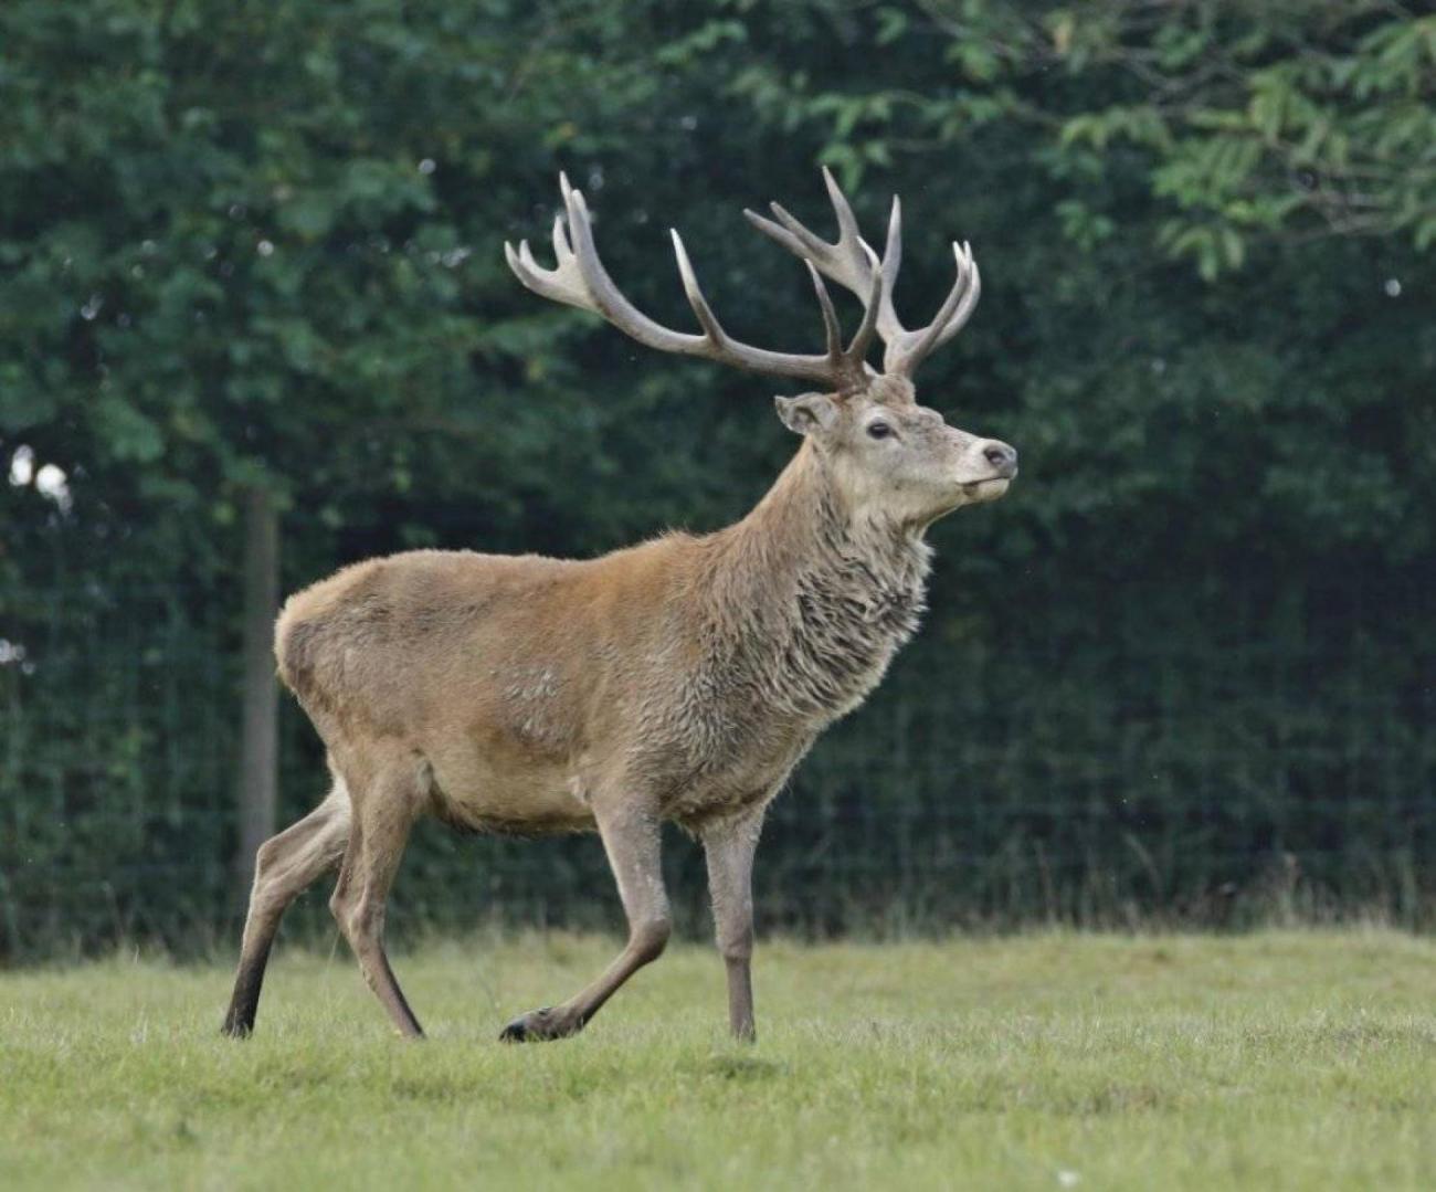
[[[243,911],[236,635],[197,615],[218,596],[132,583],[7,597],[26,641],[7,639],[0,665],[4,955],[228,938]],[[1412,636],[1420,620],[1347,602],[1258,622],[1216,587],[1178,603],[1195,620],[1176,626],[1172,602],[1142,593],[1100,626],[1012,618],[974,632],[935,618],[771,809],[760,922],[836,932],[1376,913],[1429,925],[1436,691]],[[289,701],[281,740],[289,820],[323,794],[325,771]],[[696,931],[698,846],[675,833],[666,865],[681,923]],[[617,915],[595,839],[426,824],[391,922]],[[306,921],[323,921],[323,898],[299,911]]]

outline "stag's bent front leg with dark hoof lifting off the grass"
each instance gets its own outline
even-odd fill
[[[531,1043],[577,1034],[617,988],[643,965],[658,959],[672,929],[663,870],[659,863],[658,817],[648,809],[597,813],[599,834],[617,879],[629,938],[603,974],[563,1005],[531,1010],[504,1027],[505,1043]]]

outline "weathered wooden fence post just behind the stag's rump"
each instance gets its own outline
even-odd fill
[[[240,898],[254,877],[254,853],[274,834],[279,790],[279,688],[274,682],[274,609],[279,605],[279,514],[267,488],[244,491],[244,720],[237,787]]]

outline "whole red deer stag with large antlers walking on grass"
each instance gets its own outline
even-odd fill
[[[918,628],[928,527],[1007,491],[1017,452],[918,405],[912,375],[978,300],[971,250],[936,317],[908,330],[893,310],[900,215],[882,260],[830,175],[839,237],[778,204],[760,231],[808,269],[827,348],[793,355],[729,336],[673,251],[701,335],[640,313],[593,244],[567,180],[554,269],[527,241],[504,251],[534,293],[602,315],[639,343],[814,392],[777,398],[803,442],[741,521],[663,534],[600,559],[418,550],[346,567],[293,596],[276,626],[279,671],[329,751],[333,788],[266,842],[224,1030],[254,1025],[280,915],[339,866],[330,908],[365,979],[405,1035],[421,1035],[383,951],[383,908],[419,816],[491,832],[596,829],[628,915],[628,944],[561,1005],[516,1018],[504,1040],[580,1031],[669,935],[659,826],[702,840],[728,969],[734,1034],[754,1035],[751,870],[764,809],[829,724],[856,708]],[[863,303],[844,346],[823,279]],[[883,371],[867,363],[877,336]]]

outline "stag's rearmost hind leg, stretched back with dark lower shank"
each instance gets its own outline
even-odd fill
[[[264,967],[286,908],[314,879],[327,873],[349,842],[349,793],[342,781],[299,823],[266,840],[254,857],[254,888],[244,921],[234,994],[224,1015],[224,1033],[243,1038],[254,1030],[264,985]]]

